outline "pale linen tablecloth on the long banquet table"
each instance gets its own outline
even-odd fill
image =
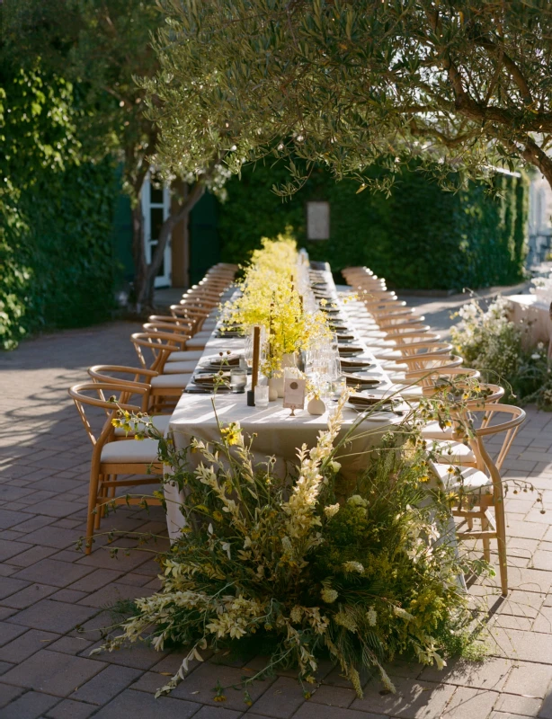
[[[334,288],[334,280],[330,271],[325,272],[326,283]],[[351,291],[351,288],[343,288]],[[342,294],[342,293],[340,293]],[[364,307],[360,302],[343,302],[343,299],[335,293],[335,304],[339,307],[346,324],[353,332],[355,325],[360,322],[360,316]],[[366,330],[366,319],[363,319],[364,329],[362,334],[369,335]],[[361,344],[363,353],[355,359],[369,359],[373,367],[366,373],[370,377],[377,378],[379,385],[377,390],[370,393],[376,395],[391,395],[396,391],[396,385],[392,375],[387,371],[386,360],[377,359],[370,349],[370,340],[363,341],[359,333],[355,333],[355,344]],[[373,342],[376,347],[381,348],[378,338],[380,333],[373,331]],[[217,329],[213,331],[206,343],[203,355],[198,365],[209,361],[213,356],[217,357],[220,351],[232,351],[239,353],[244,351],[244,338],[219,337]],[[383,352],[385,355],[385,351]],[[216,413],[213,407],[215,401]],[[289,409],[282,407],[283,400],[278,399],[269,403],[266,408],[249,407],[246,404],[246,395],[218,394],[214,400],[211,394],[187,394],[184,393],[179,400],[169,423],[169,431],[174,437],[174,445],[177,450],[182,450],[190,444],[191,437],[204,441],[219,440],[218,422],[239,422],[246,435],[256,433],[254,439],[254,457],[257,461],[266,461],[266,457],[275,457],[277,460],[276,470],[285,471],[285,463],[297,461],[297,451],[304,443],[307,447],[313,447],[320,431],[327,429],[328,410],[320,416],[313,416],[307,413],[307,409],[298,412],[296,416],[290,416]],[[331,411],[331,408],[330,410]],[[218,417],[218,420],[217,420]],[[342,464],[341,474],[345,479],[353,478],[362,466],[366,465],[367,451],[381,439],[382,433],[389,431],[394,425],[403,420],[403,416],[390,411],[370,414],[368,419],[359,423],[359,413],[353,409],[345,408],[343,411],[343,425],[338,440],[343,438],[346,432],[352,430],[351,441],[347,442],[343,449],[343,456],[336,459]],[[189,455],[190,461],[200,461],[199,453]],[[171,539],[178,537],[181,529],[185,526],[185,519],[179,510],[183,502],[183,495],[177,487],[170,482],[165,483],[165,498],[167,500],[167,524]]]

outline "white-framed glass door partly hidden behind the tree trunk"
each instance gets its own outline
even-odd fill
[[[142,187],[142,212],[144,215],[144,238],[146,241],[146,261],[151,262],[152,254],[159,238],[159,230],[171,211],[171,194],[168,187],[152,182],[147,173]],[[171,285],[171,238],[165,245],[163,262],[156,276],[156,287]]]

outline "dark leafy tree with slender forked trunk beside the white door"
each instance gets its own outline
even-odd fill
[[[144,112],[145,90],[138,77],[159,70],[151,37],[164,19],[156,0],[5,0],[0,13],[4,72],[40,68],[71,82],[79,154],[89,159],[113,155],[120,161],[132,208],[136,305],[152,306],[156,274],[174,226],[187,221],[206,186],[217,191],[225,180],[217,148],[184,173],[162,172],[174,201],[148,263],[140,193],[147,173],[163,168],[156,156],[158,129]]]

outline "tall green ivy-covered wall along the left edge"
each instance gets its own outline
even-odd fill
[[[40,67],[0,90],[0,347],[110,316],[111,162],[83,161],[76,89]]]

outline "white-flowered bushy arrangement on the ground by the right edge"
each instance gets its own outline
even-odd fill
[[[552,369],[542,342],[525,342],[527,326],[508,319],[508,302],[497,297],[485,310],[475,299],[459,310],[460,322],[451,328],[452,342],[469,367],[479,369],[487,382],[502,385],[513,404],[536,402],[552,410]]]

